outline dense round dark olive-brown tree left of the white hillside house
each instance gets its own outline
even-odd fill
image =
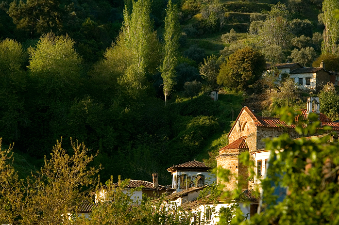
[[[245,47],[230,55],[227,64],[221,64],[217,82],[244,90],[259,80],[265,68],[265,56],[253,48]]]

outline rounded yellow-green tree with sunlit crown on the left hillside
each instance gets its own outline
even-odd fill
[[[68,36],[43,35],[36,48],[28,48],[30,77],[40,94],[54,101],[73,99],[78,90],[82,59]],[[46,99],[40,99],[46,101]]]

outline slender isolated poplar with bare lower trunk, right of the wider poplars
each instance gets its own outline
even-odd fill
[[[162,66],[160,67],[161,77],[164,80],[164,95],[165,104],[170,91],[175,85],[175,66],[177,64],[177,50],[179,47],[180,37],[180,24],[178,21],[178,9],[169,0],[166,9],[167,16],[165,18],[165,58]]]

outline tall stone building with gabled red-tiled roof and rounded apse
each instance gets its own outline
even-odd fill
[[[312,102],[315,104],[312,105]],[[309,98],[307,109],[301,110],[301,116],[307,118],[310,112],[318,113],[322,126],[331,126],[333,130],[339,131],[339,123],[332,122],[326,115],[319,112],[319,98]],[[294,125],[288,126],[278,118],[257,116],[245,106],[228,134],[230,144],[219,150],[219,155],[216,157],[217,164],[224,169],[231,170],[231,173],[236,177],[241,177],[239,180],[242,183],[239,185],[242,190],[253,189],[260,184],[260,179],[255,178],[253,181],[248,181],[248,168],[240,163],[238,156],[242,152],[248,151],[254,161],[257,177],[261,177],[265,174],[270,157],[270,151],[265,149],[265,143],[262,140],[278,137],[283,133],[288,133],[292,139],[300,138],[301,136],[294,128]],[[230,177],[230,182],[225,183],[225,188],[233,190],[237,185],[238,180],[235,177]]]

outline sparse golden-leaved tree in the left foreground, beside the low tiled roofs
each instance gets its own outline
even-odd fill
[[[91,167],[93,155],[84,144],[73,143],[72,154],[57,141],[51,158],[45,157],[44,166],[27,182],[27,196],[21,212],[22,224],[57,225],[68,221],[84,199],[84,187],[93,185],[97,168]]]

